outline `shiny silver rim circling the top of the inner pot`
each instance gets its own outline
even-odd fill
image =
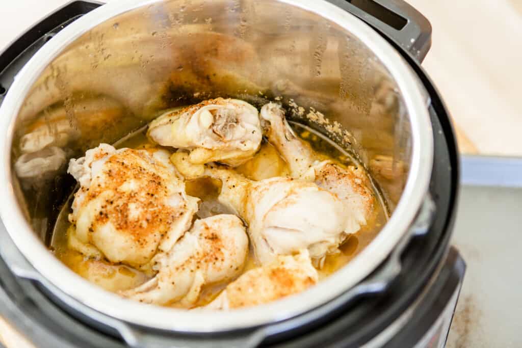
[[[32,231],[18,205],[11,172],[11,143],[15,119],[32,84],[63,49],[91,28],[129,10],[161,0],[113,2],[93,10],[64,28],[37,52],[15,78],[0,107],[4,164],[0,193],[5,197],[0,215],[14,243],[29,263],[54,286],[76,301],[111,317],[143,327],[183,332],[218,332],[265,325],[294,317],[323,305],[369,275],[405,237],[428,192],[433,163],[433,135],[421,86],[412,69],[395,49],[363,21],[324,0],[278,0],[290,6],[321,14],[351,32],[388,69],[397,83],[412,129],[410,172],[399,203],[374,241],[348,265],[311,289],[276,302],[233,311],[187,311],[150,306],[124,299],[101,289],[69,270],[43,245]]]

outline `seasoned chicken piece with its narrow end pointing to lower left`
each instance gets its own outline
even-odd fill
[[[153,259],[156,277],[122,294],[158,305],[180,300],[193,304],[203,285],[236,277],[243,269],[247,251],[245,227],[235,215],[196,220],[170,251]]]

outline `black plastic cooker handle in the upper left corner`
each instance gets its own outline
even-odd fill
[[[46,16],[31,29],[11,42],[0,53],[0,104],[11,87],[18,71],[29,61],[40,47],[58,31],[102,5],[96,1],[73,1]]]

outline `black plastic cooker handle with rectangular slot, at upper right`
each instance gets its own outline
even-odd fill
[[[403,0],[329,0],[422,62],[431,47],[431,24]]]

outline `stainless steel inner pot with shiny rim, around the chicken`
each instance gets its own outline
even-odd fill
[[[220,96],[256,105],[281,100],[294,120],[349,147],[393,211],[371,245],[302,294],[205,313],[128,301],[53,256],[45,243],[74,188],[68,159],[114,142],[168,107]],[[68,304],[184,332],[295,317],[361,282],[412,234],[432,168],[427,103],[392,46],[323,0],[113,2],[58,33],[10,87],[0,109],[2,220],[40,279]]]

